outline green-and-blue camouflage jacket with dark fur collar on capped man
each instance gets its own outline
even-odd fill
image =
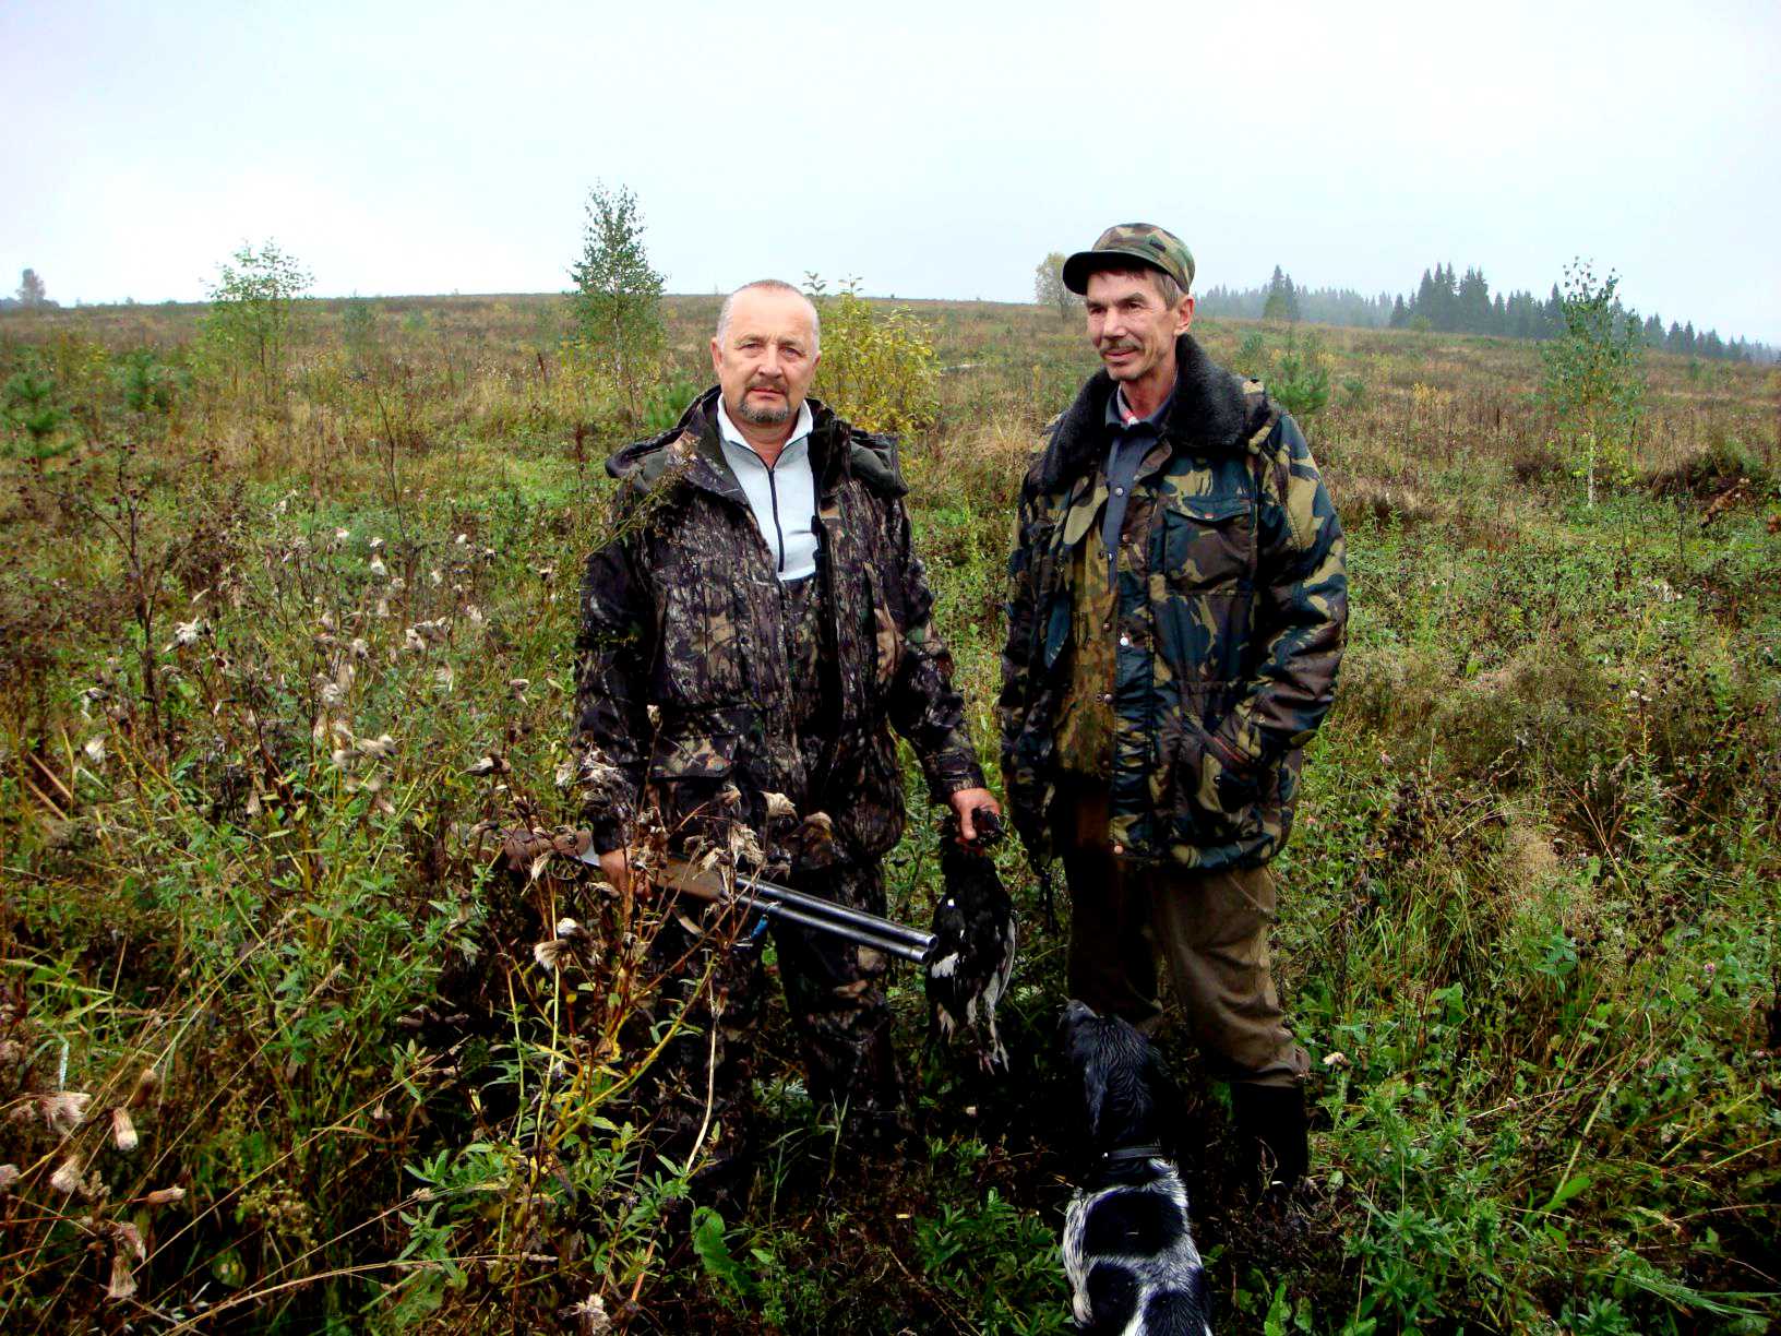
[[[1174,406],[1133,486],[1108,625],[1108,839],[1138,860],[1254,866],[1291,830],[1302,748],[1336,689],[1348,577],[1305,438],[1183,335]],[[1113,381],[1095,374],[1021,488],[999,698],[1010,814],[1047,857],[1072,682],[1070,570],[1099,543]],[[1076,770],[1090,770],[1078,764]],[[1104,768],[1106,770],[1106,768]]]

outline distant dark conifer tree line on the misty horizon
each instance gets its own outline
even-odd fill
[[[1202,315],[1250,321],[1305,321],[1309,324],[1352,324],[1373,330],[1439,330],[1443,333],[1482,333],[1503,338],[1557,338],[1564,333],[1564,299],[1553,283],[1549,296],[1532,292],[1491,292],[1482,269],[1459,273],[1455,265],[1425,269],[1414,294],[1380,292],[1366,296],[1354,289],[1305,289],[1293,283],[1279,265],[1263,287],[1211,287],[1200,294]],[[1781,349],[1747,338],[1728,340],[1717,330],[1696,331],[1694,321],[1679,324],[1615,303],[1615,319],[1635,321],[1647,347],[1685,356],[1726,362],[1776,362]]]

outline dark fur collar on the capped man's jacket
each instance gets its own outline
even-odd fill
[[[1273,411],[1266,395],[1247,394],[1243,385],[1241,376],[1206,356],[1193,335],[1181,335],[1175,340],[1175,399],[1163,420],[1163,438],[1199,454],[1243,449]],[[1101,460],[1111,395],[1113,378],[1097,371],[1063,410],[1033,474],[1040,490],[1060,490]]]

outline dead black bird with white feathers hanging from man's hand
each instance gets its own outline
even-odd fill
[[[944,889],[933,907],[933,951],[928,955],[928,1039],[964,1033],[983,1071],[1003,1071],[1008,1051],[996,1033],[996,1003],[1013,973],[1013,901],[1003,889],[988,848],[1001,839],[1001,821],[987,809],[974,814],[978,837],[958,837],[958,818],[940,825]]]

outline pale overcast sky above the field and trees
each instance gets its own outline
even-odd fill
[[[1777,55],[1776,0],[0,0],[0,290],[194,299],[265,237],[324,296],[556,290],[604,180],[670,292],[1026,301],[1143,219],[1199,287],[1582,253],[1781,342]]]

